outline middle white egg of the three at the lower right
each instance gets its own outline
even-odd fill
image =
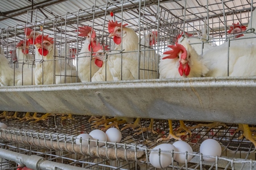
[[[188,152],[188,154],[193,154],[192,147],[188,145],[187,142],[184,141],[177,141],[172,143],[177,149],[177,152]],[[193,158],[193,155],[188,155],[187,162],[189,162]],[[175,159],[176,162],[184,164],[186,160],[186,155],[185,154],[176,154]]]

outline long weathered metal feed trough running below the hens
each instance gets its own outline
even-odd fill
[[[0,110],[256,124],[256,78],[0,87]]]

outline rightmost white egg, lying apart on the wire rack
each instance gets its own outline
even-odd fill
[[[214,139],[206,139],[201,143],[200,153],[208,156],[220,156],[221,155],[221,146],[220,143]],[[215,158],[206,158],[203,156],[203,159],[208,162],[215,162]]]

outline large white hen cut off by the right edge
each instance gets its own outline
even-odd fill
[[[248,25],[256,28],[256,11],[253,11]],[[246,39],[249,38],[249,39]],[[204,53],[203,59],[207,63],[209,72],[207,76],[255,76],[256,75],[256,36],[254,33],[246,33],[242,37],[230,40],[222,45],[216,46],[212,50]],[[229,63],[229,65],[228,65]],[[243,136],[253,142],[248,125],[240,125],[239,130],[243,131]]]

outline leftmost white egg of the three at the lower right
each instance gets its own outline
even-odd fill
[[[166,150],[166,151],[177,151],[175,146],[171,145],[170,143],[163,143],[160,144],[156,147],[154,147],[154,150]],[[159,157],[160,156],[160,157]],[[159,151],[151,151],[150,152],[150,163],[155,167],[155,168],[161,168],[161,165],[163,168],[168,167],[172,163],[172,153],[171,152],[164,152],[161,151],[159,155]],[[174,159],[176,157],[176,154],[174,154]],[[161,163],[161,165],[160,165]]]

